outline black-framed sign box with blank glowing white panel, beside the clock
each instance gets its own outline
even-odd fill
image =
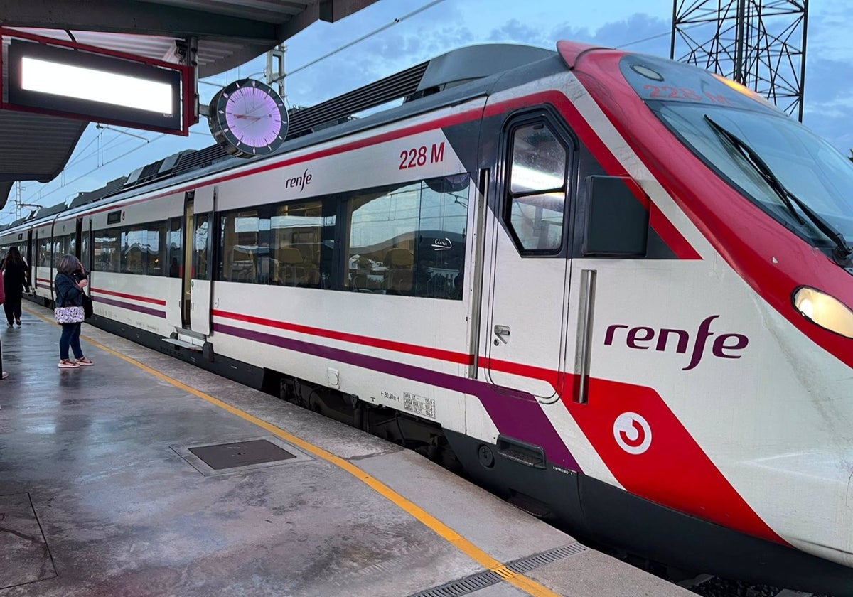
[[[181,133],[177,69],[13,39],[9,107]]]

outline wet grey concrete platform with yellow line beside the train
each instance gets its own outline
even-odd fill
[[[412,451],[25,304],[0,329],[0,597],[669,597]]]

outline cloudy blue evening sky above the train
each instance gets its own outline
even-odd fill
[[[680,4],[700,0],[677,0]],[[784,0],[763,0],[779,5]],[[804,125],[843,154],[853,148],[853,43],[847,32],[847,0],[809,3]],[[285,101],[288,107],[312,106],[376,79],[386,77],[476,43],[524,43],[554,49],[560,39],[595,43],[670,57],[673,0],[377,0],[336,23],[317,21],[287,40]],[[772,25],[772,21],[769,21]],[[781,18],[779,22],[790,22]],[[704,41],[705,30],[690,34]],[[798,46],[798,38],[792,43]],[[676,45],[679,50],[687,46]],[[339,50],[339,51],[336,51]],[[206,104],[222,86],[239,78],[264,80],[260,56],[239,68],[200,82]],[[78,193],[102,187],[183,149],[212,145],[206,119],[187,137],[161,135],[125,127],[90,124],[61,175],[49,183],[15,185],[0,211],[0,225],[29,209],[15,200],[40,206],[70,202]]]

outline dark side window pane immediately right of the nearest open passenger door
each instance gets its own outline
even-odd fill
[[[328,288],[334,223],[321,200],[225,214],[219,280]]]

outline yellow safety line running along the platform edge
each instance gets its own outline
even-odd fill
[[[44,320],[45,322],[55,323],[53,320],[48,319],[47,317],[42,316],[39,313],[36,313],[32,310],[26,309],[28,313],[31,313],[34,316]],[[59,325],[59,324],[56,324]],[[331,462],[334,466],[339,467],[346,472],[349,472],[353,477],[357,478],[359,481],[368,485],[371,489],[375,490],[381,496],[385,497],[386,500],[391,501],[396,504],[397,507],[402,508],[405,512],[409,513],[415,519],[418,519],[424,525],[427,525],[433,532],[435,532],[438,536],[441,536],[445,541],[450,542],[454,547],[459,549],[463,554],[466,554],[469,558],[473,559],[479,565],[482,565],[484,568],[496,572],[503,580],[508,583],[513,584],[515,587],[520,588],[525,591],[527,594],[533,595],[533,597],[560,597],[560,594],[554,593],[554,591],[550,590],[547,587],[543,587],[543,585],[537,583],[534,580],[531,580],[528,577],[525,577],[522,574],[518,574],[517,572],[511,571],[507,568],[506,565],[503,565],[501,562],[492,558],[489,554],[487,554],[483,549],[478,548],[472,542],[468,541],[465,537],[461,536],[456,530],[451,529],[448,525],[445,525],[443,522],[432,516],[432,514],[428,513],[426,510],[417,506],[412,501],[407,500],[396,491],[392,490],[386,484],[382,483],[380,480],[371,477],[367,472],[364,472],[362,469],[353,465],[350,461],[346,461],[345,459],[332,454],[331,452],[322,449],[313,443],[308,443],[302,438],[298,438],[295,435],[276,427],[275,425],[271,425],[267,423],[265,420],[260,420],[258,417],[253,416],[252,414],[248,414],[241,409],[237,409],[231,406],[228,403],[223,403],[223,401],[218,398],[214,398],[209,396],[203,391],[198,391],[189,385],[183,384],[182,382],[175,380],[167,375],[161,374],[160,371],[157,371],[153,368],[148,367],[148,365],[144,365],[141,362],[138,362],[132,359],[130,356],[125,356],[120,352],[113,351],[113,349],[102,345],[100,342],[88,338],[86,336],[81,335],[81,339],[86,340],[92,345],[95,345],[97,348],[102,351],[106,351],[113,356],[118,356],[125,362],[131,363],[137,368],[142,369],[148,374],[154,375],[154,377],[159,378],[160,380],[165,381],[168,384],[174,385],[175,387],[189,392],[195,397],[199,397],[202,400],[206,400],[206,402],[211,403],[215,406],[218,406],[220,409],[227,410],[231,414],[236,414],[243,420],[247,420],[250,423],[254,423],[255,425],[264,428],[270,433],[277,435],[279,438],[284,439],[289,443],[293,443],[293,445],[298,446],[300,449],[305,450],[306,452],[310,452],[313,455],[316,455],[318,458],[322,458],[324,461]]]

